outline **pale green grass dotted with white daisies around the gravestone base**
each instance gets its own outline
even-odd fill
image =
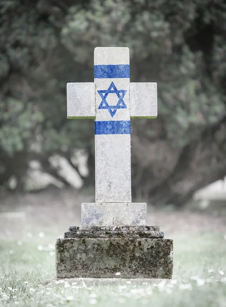
[[[134,286],[46,284],[55,277],[56,237],[38,233],[23,241],[0,241],[0,306],[226,306],[225,233],[173,234],[171,281]],[[225,274],[225,275],[224,275]]]

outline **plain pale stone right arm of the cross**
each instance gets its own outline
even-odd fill
[[[156,118],[157,115],[157,83],[130,83],[130,116]]]

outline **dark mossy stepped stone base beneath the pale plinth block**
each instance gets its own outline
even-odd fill
[[[57,278],[169,279],[173,244],[163,236],[158,226],[71,226],[56,243]]]

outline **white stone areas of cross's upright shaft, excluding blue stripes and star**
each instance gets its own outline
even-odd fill
[[[95,48],[95,65],[129,64],[128,48]],[[130,121],[130,78],[95,78],[96,121]],[[127,108],[117,109],[112,117],[108,109],[99,109],[102,97],[98,90],[108,90],[111,82],[117,90],[127,91]],[[115,93],[107,95],[109,105],[119,101]],[[95,135],[96,202],[131,202],[131,136]]]

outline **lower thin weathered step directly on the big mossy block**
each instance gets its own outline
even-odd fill
[[[67,231],[64,233],[65,238],[163,238],[162,231]]]

